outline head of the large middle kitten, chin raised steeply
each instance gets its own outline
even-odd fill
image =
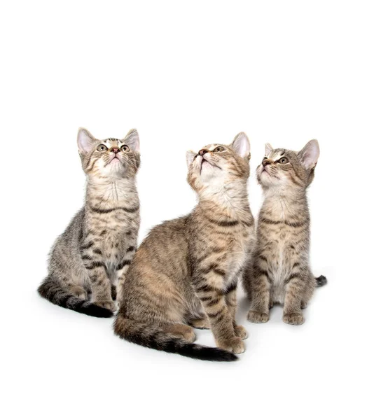
[[[237,134],[232,144],[208,144],[198,153],[188,151],[188,183],[199,193],[207,187],[223,188],[249,177],[250,145],[247,134]]]

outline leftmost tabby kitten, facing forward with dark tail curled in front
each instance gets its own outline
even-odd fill
[[[80,128],[78,149],[88,179],[85,206],[55,241],[38,291],[61,307],[109,317],[137,247],[139,135],[100,141]]]

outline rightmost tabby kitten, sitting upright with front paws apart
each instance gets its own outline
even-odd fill
[[[314,178],[318,157],[317,140],[309,141],[300,152],[265,146],[265,158],[256,171],[264,202],[251,265],[243,281],[251,300],[251,322],[267,322],[272,305],[280,303],[284,304],[284,322],[302,324],[301,309],[307,307],[314,288],[326,283],[324,276],[314,279],[309,267],[306,190]]]

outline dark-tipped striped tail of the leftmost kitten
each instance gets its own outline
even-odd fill
[[[113,312],[109,309],[99,307],[88,300],[71,295],[71,293],[61,287],[59,282],[50,279],[50,277],[43,280],[43,283],[38,288],[38,293],[49,302],[80,314],[97,316],[97,318],[110,318],[113,316]]]

